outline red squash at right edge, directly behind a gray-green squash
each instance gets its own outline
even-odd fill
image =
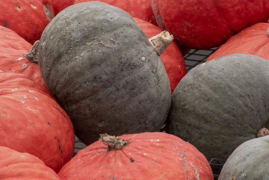
[[[242,30],[221,45],[208,61],[233,53],[248,53],[269,60],[268,28],[268,23],[258,23]]]

